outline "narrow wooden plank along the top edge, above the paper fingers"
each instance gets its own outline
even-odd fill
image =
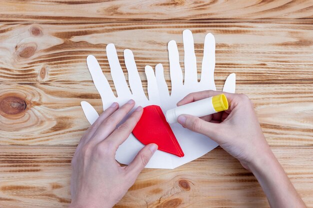
[[[311,0],[0,0],[0,21],[312,18]]]

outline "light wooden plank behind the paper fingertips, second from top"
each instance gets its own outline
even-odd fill
[[[91,81],[86,56],[97,57],[109,76],[105,56],[116,45],[133,51],[142,79],[144,66],[162,63],[169,79],[167,43],[177,41],[183,68],[182,30],[193,32],[198,69],[203,41],[216,40],[215,79],[232,72],[237,80],[313,80],[313,20],[275,22],[131,22],[106,24],[0,25],[0,81]]]

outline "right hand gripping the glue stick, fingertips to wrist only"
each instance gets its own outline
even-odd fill
[[[218,94],[221,92],[212,90],[190,93],[180,100],[177,106]],[[244,94],[224,94],[229,102],[228,110],[201,118],[180,115],[178,123],[214,140],[221,148],[238,159],[245,169],[249,170],[251,163],[272,153],[249,98]]]

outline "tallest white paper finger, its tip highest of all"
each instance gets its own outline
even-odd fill
[[[183,30],[182,39],[184,49],[184,85],[193,85],[198,82],[198,78],[191,31],[188,29]]]

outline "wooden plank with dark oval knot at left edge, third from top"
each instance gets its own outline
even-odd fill
[[[222,83],[217,82],[218,90]],[[143,88],[146,91],[146,82]],[[247,94],[254,102],[270,145],[309,146],[313,145],[312,88],[311,82],[239,81],[236,92]],[[89,127],[80,107],[82,100],[102,111],[92,82],[1,83],[0,144],[76,145]]]

